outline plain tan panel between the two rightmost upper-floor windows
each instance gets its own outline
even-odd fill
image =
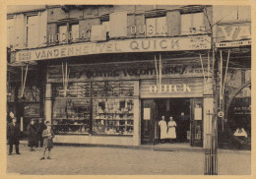
[[[166,13],[167,34],[169,36],[180,35],[180,12],[171,11]]]

